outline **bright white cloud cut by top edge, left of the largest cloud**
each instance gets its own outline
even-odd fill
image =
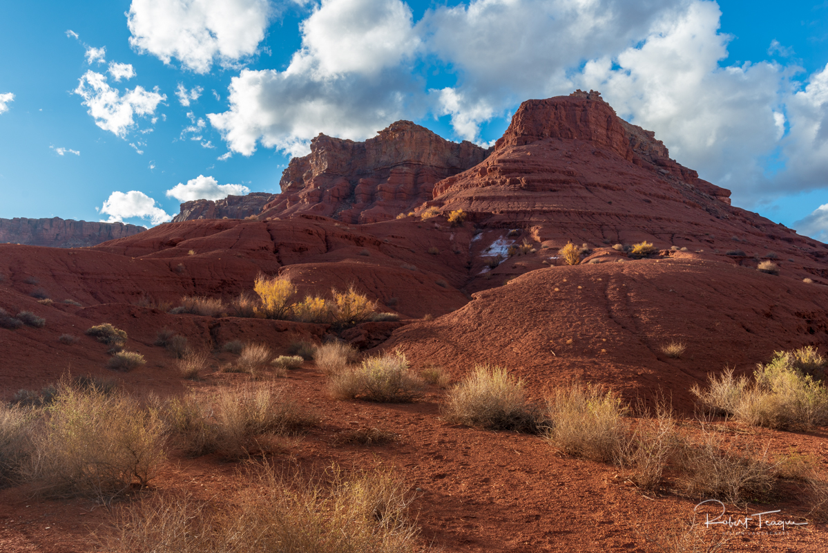
[[[267,0],[132,0],[129,43],[206,73],[214,62],[232,65],[256,53],[272,14]]]

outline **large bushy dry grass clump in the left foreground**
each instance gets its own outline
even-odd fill
[[[166,457],[161,421],[123,393],[65,379],[45,409],[24,471],[47,496],[114,497],[146,486]]]

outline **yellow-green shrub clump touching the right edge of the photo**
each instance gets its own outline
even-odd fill
[[[806,361],[801,366],[814,362],[810,352],[802,355]],[[758,365],[752,380],[734,378],[729,369],[710,375],[706,390],[694,386],[691,392],[705,410],[732,415],[745,424],[807,429],[828,423],[828,389],[797,366],[792,352],[775,352],[771,362]]]

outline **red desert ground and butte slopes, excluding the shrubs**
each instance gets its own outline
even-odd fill
[[[138,305],[175,306],[185,294],[229,301],[251,291],[259,272],[290,276],[300,296],[354,285],[381,311],[399,313],[399,322],[341,334],[369,354],[399,348],[416,370],[443,366],[455,381],[476,363],[504,366],[535,399],[571,379],[603,383],[631,401],[667,397],[688,429],[697,426],[688,390],[708,373],[725,366],[749,373],[776,350],[826,352],[828,246],[731,206],[728,191],[672,161],[652,133],[624,123],[597,93],[525,102],[492,153],[437,143],[407,125],[389,129],[368,146],[320,138],[330,148],[291,162],[313,171],[286,172],[295,197],[270,201],[260,221],[177,222],[82,249],[0,245],[0,308],[46,318],[42,328],[0,328],[0,399],[67,371],[116,377],[139,397],[211,390],[247,378],[219,371],[234,359],[219,352],[225,342],[266,342],[281,355],[291,342],[333,332]],[[437,144],[439,155],[417,157],[411,148],[421,143]],[[342,165],[345,146],[362,165]],[[451,156],[458,159],[446,164]],[[394,163],[408,163],[426,184],[414,187],[416,179],[388,169]],[[356,196],[371,186],[377,196]],[[339,203],[326,204],[335,188]],[[351,194],[362,200],[349,203]],[[393,218],[415,203],[417,216]],[[426,206],[441,215],[421,221]],[[450,226],[445,216],[456,209],[468,220]],[[342,213],[378,222],[349,224]],[[586,244],[582,264],[558,259],[568,240]],[[633,260],[612,247],[642,240],[657,254]],[[525,253],[508,255],[524,242]],[[779,274],[759,272],[762,260]],[[37,303],[32,293],[55,303]],[[147,364],[108,371],[106,347],[84,335],[99,323],[126,330],[126,348]],[[182,381],[171,354],[153,346],[163,327],[212,348],[203,381]],[[67,333],[78,341],[58,342]],[[660,351],[672,340],[686,344],[681,359]],[[691,520],[696,499],[675,489],[644,493],[617,468],[568,458],[537,436],[446,423],[445,390],[431,387],[409,405],[371,404],[331,399],[325,380],[312,362],[279,380],[322,423],[288,440],[273,463],[396,468],[416,493],[423,536],[443,551],[657,551],[645,536],[668,541]],[[339,444],[339,434],[361,427],[388,430],[397,441]],[[718,428],[750,433],[775,455],[811,456],[823,474],[828,468],[825,429]],[[173,452],[152,489],[224,497],[240,482],[239,466]],[[802,521],[800,496],[729,512],[782,509]],[[26,486],[0,491],[0,551],[90,551],[89,531],[107,521],[107,510],[89,500],[43,500]],[[811,521],[780,535],[734,536],[724,551],[824,551],[826,543],[826,527]]]

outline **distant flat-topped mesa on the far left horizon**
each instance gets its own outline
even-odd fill
[[[0,219],[0,243],[79,248],[126,238],[147,230],[123,223],[97,223],[71,219]]]

